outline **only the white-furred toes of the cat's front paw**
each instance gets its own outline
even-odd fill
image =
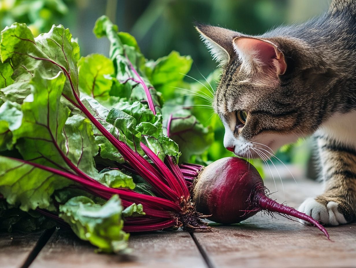
[[[327,206],[324,206],[315,201],[314,198],[307,198],[302,205],[299,206],[298,210],[311,216],[314,220],[323,222],[323,224],[340,225],[347,223],[344,215],[337,210],[337,203],[334,201],[330,201]],[[308,224],[308,222],[303,220],[299,221],[302,222],[302,224]]]

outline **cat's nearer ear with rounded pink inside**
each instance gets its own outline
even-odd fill
[[[245,67],[263,74],[281,75],[287,64],[283,52],[269,40],[256,37],[234,38],[234,48]]]

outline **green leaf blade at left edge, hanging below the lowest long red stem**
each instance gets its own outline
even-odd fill
[[[24,211],[37,207],[56,210],[51,195],[72,182],[33,165],[0,156],[0,193],[7,203]]]

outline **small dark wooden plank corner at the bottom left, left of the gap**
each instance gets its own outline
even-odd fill
[[[0,267],[20,268],[26,266],[48,239],[48,231],[33,233],[0,233]]]

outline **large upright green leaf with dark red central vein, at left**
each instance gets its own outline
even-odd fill
[[[25,160],[69,170],[58,150],[66,147],[63,128],[69,109],[60,101],[65,80],[62,72],[49,79],[36,72],[30,83],[32,94],[21,107],[22,125],[14,137],[21,138],[16,147]]]

